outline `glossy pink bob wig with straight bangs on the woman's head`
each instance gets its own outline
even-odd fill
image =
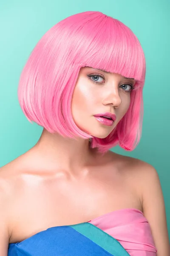
[[[71,99],[79,70],[93,67],[134,78],[127,113],[104,139],[79,129]],[[102,12],[82,12],[61,20],[38,41],[20,76],[18,99],[23,113],[51,133],[91,138],[100,153],[115,145],[133,150],[142,134],[145,58],[141,44],[122,22]]]

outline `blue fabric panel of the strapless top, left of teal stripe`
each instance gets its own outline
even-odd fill
[[[88,224],[87,224],[88,225]],[[75,227],[76,225],[74,225]],[[81,225],[79,225],[81,226]],[[84,225],[86,227],[86,225]],[[83,227],[83,225],[82,225]],[[89,225],[90,227],[90,225]],[[82,229],[83,230],[83,229]],[[91,233],[92,233],[91,229]],[[87,233],[87,228],[86,228]],[[108,236],[104,233],[102,236]],[[91,234],[92,236],[92,234]],[[95,234],[96,236],[96,234]],[[100,235],[101,236],[101,235]],[[101,236],[101,239],[102,239]],[[100,240],[98,238],[98,240]],[[113,239],[115,240],[115,239]],[[114,245],[114,244],[113,244]],[[118,245],[119,246],[119,245]],[[95,243],[71,226],[51,227],[20,243],[9,244],[8,256],[126,256],[129,255],[120,245],[115,253]],[[113,246],[114,247],[114,246]],[[121,254],[117,253],[120,249]],[[124,250],[125,254],[122,252]]]

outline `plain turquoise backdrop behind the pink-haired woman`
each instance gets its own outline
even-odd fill
[[[28,122],[17,100],[20,73],[34,46],[55,23],[100,11],[132,29],[144,49],[147,73],[144,120],[138,147],[113,151],[152,164],[160,177],[170,234],[170,1],[4,0],[0,2],[0,167],[26,152],[42,128]]]

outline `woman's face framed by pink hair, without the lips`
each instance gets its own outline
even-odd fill
[[[134,84],[134,79],[116,73],[81,68],[71,102],[76,125],[94,137],[107,137],[127,112]],[[105,112],[116,115],[113,125],[104,125],[94,117]]]

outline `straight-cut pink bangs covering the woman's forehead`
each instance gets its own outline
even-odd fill
[[[96,23],[95,20],[91,22],[93,33],[87,36],[87,40],[82,40],[85,42],[81,47],[81,66],[118,73],[135,79],[138,85],[143,84],[145,57],[138,38],[125,24],[111,17],[104,17],[100,24],[96,20]],[[86,29],[89,25],[83,27],[85,36],[88,34]]]

